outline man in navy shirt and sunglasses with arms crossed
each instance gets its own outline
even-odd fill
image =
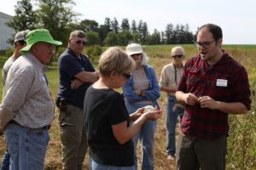
[[[84,31],[71,32],[68,47],[58,60],[60,82],[56,105],[59,107],[61,161],[65,170],[82,169],[87,150],[84,95],[99,77],[88,56],[82,54],[85,42]]]

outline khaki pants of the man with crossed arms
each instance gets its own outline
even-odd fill
[[[83,109],[67,104],[59,110],[62,167],[64,170],[81,170],[87,150]]]

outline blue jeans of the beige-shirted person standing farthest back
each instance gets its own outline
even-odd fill
[[[166,152],[174,156],[176,153],[175,147],[175,131],[177,125],[177,116],[179,121],[182,121],[184,108],[177,106],[178,102],[175,96],[167,94],[166,100]]]

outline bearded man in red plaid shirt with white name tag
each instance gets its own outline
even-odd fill
[[[199,55],[189,59],[177,84],[186,108],[177,140],[177,169],[225,169],[229,114],[250,110],[247,71],[221,48],[222,30],[207,24],[197,31]]]

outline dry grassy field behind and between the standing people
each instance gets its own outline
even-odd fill
[[[182,45],[186,59],[197,54],[197,49],[193,45]],[[143,46],[144,51],[148,54],[148,64],[154,67],[156,76],[160,80],[160,73],[164,65],[170,63],[170,51],[174,45],[157,45]],[[256,91],[256,45],[224,45],[231,56],[238,60],[241,65],[244,65],[249,75],[251,90]],[[3,63],[8,59],[5,56],[0,57],[0,68],[2,72]],[[96,63],[94,63],[96,66]],[[2,75],[2,74],[1,74]],[[58,71],[57,63],[53,62],[49,66],[47,73],[49,80],[49,88],[53,99],[55,99],[58,89]],[[2,79],[2,76],[1,76]],[[2,99],[3,85],[0,83],[0,97]],[[119,90],[119,89],[117,89]],[[256,105],[255,95],[252,95],[253,104],[252,110],[247,115],[230,116],[230,138],[228,141],[229,155],[227,156],[227,169],[256,169]],[[158,99],[160,108],[165,112],[166,93],[161,92]],[[47,150],[45,159],[45,169],[61,169],[61,142],[59,129],[57,127],[57,110],[55,108],[55,120],[49,130],[51,140]],[[166,117],[160,117],[155,133],[154,144],[154,169],[157,170],[172,170],[175,169],[175,161],[166,159]],[[177,133],[178,133],[177,125]],[[0,158],[5,150],[3,136],[0,138]],[[139,144],[137,150],[140,150]],[[141,156],[140,151],[137,151],[138,157]],[[140,159],[138,161],[140,166]],[[242,167],[243,166],[243,167]],[[84,169],[88,169],[88,155],[84,160]]]

